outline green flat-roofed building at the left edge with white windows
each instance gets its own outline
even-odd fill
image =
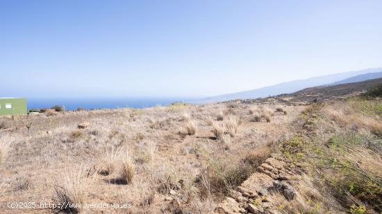
[[[0,98],[0,115],[26,115],[26,99]]]

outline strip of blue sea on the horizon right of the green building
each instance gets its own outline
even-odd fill
[[[185,98],[26,98],[28,109],[50,108],[54,105],[67,111],[83,109],[117,109],[124,107],[145,108],[169,105],[172,102],[187,102]]]

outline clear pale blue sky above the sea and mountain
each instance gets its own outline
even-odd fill
[[[203,97],[379,66],[382,1],[0,1],[0,97]]]

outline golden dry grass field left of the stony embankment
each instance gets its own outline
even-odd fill
[[[6,181],[8,189],[14,190],[0,198],[0,213],[6,201],[44,202],[52,197],[62,202],[131,202],[133,207],[122,213],[160,213],[163,209],[168,213],[171,201],[167,199],[172,197],[179,200],[183,212],[210,213],[222,199],[212,190],[207,200],[202,197],[199,175],[210,160],[235,163],[237,167],[225,177],[231,183],[228,187],[234,188],[244,179],[239,163],[246,151],[279,139],[303,108],[290,107],[290,116],[274,118],[269,124],[251,123],[244,105],[230,109],[227,116],[222,114],[226,105],[213,104],[21,117],[33,123],[29,135],[19,121],[0,118],[9,127],[1,130],[1,136],[21,136],[0,164],[0,183]],[[188,121],[197,124],[197,131],[183,136]],[[78,130],[83,122],[90,125]],[[227,123],[232,127],[226,127]],[[80,163],[92,167],[80,170]],[[84,173],[92,177],[78,177]],[[32,188],[17,188],[18,177],[28,177]],[[88,182],[92,188],[85,188]],[[108,213],[110,209],[90,208],[89,212]]]

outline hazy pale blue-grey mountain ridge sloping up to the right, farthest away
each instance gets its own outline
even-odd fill
[[[365,74],[365,73],[377,73],[382,72],[382,68],[375,69],[364,69],[361,71],[349,71],[345,73],[335,73],[332,75],[323,75],[315,78],[309,78],[306,80],[294,80],[291,82],[283,82],[280,84],[274,84],[269,87],[263,87],[260,89],[254,89],[251,91],[242,91],[238,93],[229,93],[220,96],[211,96],[204,98],[202,100],[196,100],[195,102],[223,102],[226,100],[235,99],[255,99],[264,98],[267,96],[276,96],[281,93],[293,93],[294,91],[299,91],[301,89],[306,89],[308,87],[317,87],[320,85],[331,84],[332,82],[342,81],[347,78],[354,77],[355,75]]]

